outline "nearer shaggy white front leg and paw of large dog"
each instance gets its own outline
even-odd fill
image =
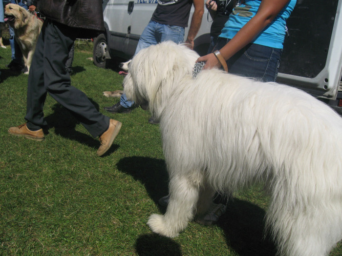
[[[199,188],[190,179],[174,177],[170,181],[169,190],[170,201],[166,214],[151,215],[147,224],[157,234],[174,237],[192,220]]]

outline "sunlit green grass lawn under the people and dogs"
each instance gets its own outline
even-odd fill
[[[237,193],[213,226],[195,222],[170,239],[146,225],[167,194],[167,173],[158,125],[141,108],[108,114],[118,99],[103,91],[121,89],[123,77],[97,68],[91,46],[77,47],[72,85],[110,118],[123,123],[113,146],[96,157],[92,138],[50,96],[44,106],[45,140],[8,135],[24,122],[27,76],[10,72],[10,47],[0,48],[0,255],[189,255],[274,256],[263,239],[268,204],[261,186]],[[331,256],[341,256],[341,243]]]

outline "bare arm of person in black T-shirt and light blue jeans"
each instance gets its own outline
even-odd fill
[[[185,43],[189,44],[190,49],[193,49],[193,40],[198,33],[199,27],[201,26],[202,16],[204,13],[203,0],[193,0],[193,6],[195,7],[195,10],[192,15],[188,37],[185,40]]]

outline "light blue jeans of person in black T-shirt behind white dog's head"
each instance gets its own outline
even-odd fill
[[[184,27],[169,26],[150,20],[140,36],[134,55],[144,48],[168,40],[182,43],[184,41]],[[134,101],[129,101],[126,94],[123,94],[120,98],[120,105],[125,108],[131,108],[134,105]]]

